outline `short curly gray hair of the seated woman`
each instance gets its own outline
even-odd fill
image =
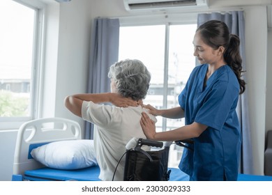
[[[123,97],[141,100],[149,89],[151,74],[142,61],[126,59],[114,63],[108,77],[115,81],[117,92]]]

